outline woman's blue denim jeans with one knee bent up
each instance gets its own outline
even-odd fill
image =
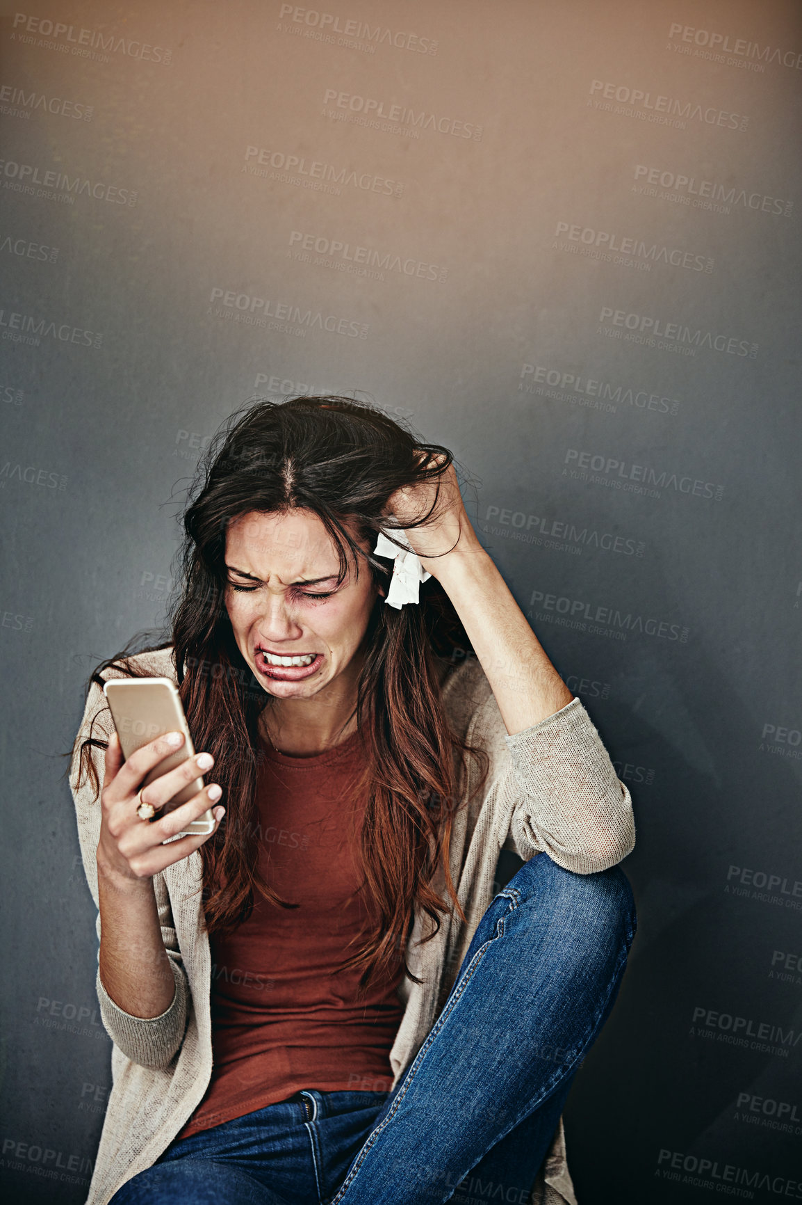
[[[112,1205],[525,1205],[636,928],[620,866],[537,854],[491,900],[391,1093],[306,1088],[173,1141]]]

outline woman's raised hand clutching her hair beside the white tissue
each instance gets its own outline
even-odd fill
[[[436,464],[442,464],[444,459],[442,452],[434,455]],[[405,519],[412,523],[431,509],[438,484],[440,494],[431,517],[420,527],[405,529],[403,533],[413,552],[420,558],[420,564],[432,577],[438,576],[438,569],[448,560],[448,554],[462,553],[471,542],[478,543],[462,502],[454,465],[449,464],[437,478],[396,489],[384,507],[384,515],[393,515],[400,523]],[[442,553],[446,556],[441,556]]]

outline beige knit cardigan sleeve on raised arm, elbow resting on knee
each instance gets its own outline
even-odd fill
[[[488,690],[472,730],[490,753],[488,782],[502,848],[524,862],[546,852],[583,875],[632,852],[630,793],[579,699],[511,736]]]

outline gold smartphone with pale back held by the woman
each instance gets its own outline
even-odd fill
[[[164,733],[183,733],[184,743],[175,753],[167,754],[158,765],[148,772],[142,782],[146,787],[154,778],[161,777],[169,770],[173,770],[187,758],[194,757],[195,747],[189,735],[189,725],[181,703],[181,695],[175,682],[170,678],[112,678],[104,686],[104,694],[108,701],[114,727],[119,735],[119,743],[123,757],[129,758],[143,745],[148,745]],[[166,816],[175,811],[181,804],[185,804],[199,790],[204,789],[204,777],[199,775],[194,782],[170,799],[161,807],[157,816]],[[200,833],[206,836],[214,828],[212,809],[208,807],[202,816],[182,829],[182,833]]]

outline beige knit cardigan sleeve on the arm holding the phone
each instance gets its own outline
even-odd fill
[[[105,677],[114,676],[120,675],[106,671]],[[99,780],[96,790],[90,782],[85,768],[83,770],[81,768],[79,754],[81,742],[84,737],[92,735],[106,741],[111,731],[113,731],[113,723],[105,695],[98,683],[93,682],[73,746],[70,765],[70,789],[76,809],[83,869],[92,898],[98,909],[95,922],[98,940],[100,940],[100,907],[98,898],[96,851],[98,841],[100,840],[100,790],[102,790],[105,772],[104,750],[95,746],[90,746],[89,748],[89,754]],[[159,1017],[135,1017],[120,1009],[108,995],[100,980],[100,969],[98,969],[95,986],[100,1001],[100,1016],[114,1045],[134,1063],[148,1068],[165,1068],[176,1054],[184,1036],[189,1012],[189,984],[187,972],[183,968],[181,950],[178,948],[170,897],[163,875],[154,875],[153,887],[159,910],[161,940],[164,941],[175,980],[172,1004]],[[100,959],[100,951],[98,957]]]

